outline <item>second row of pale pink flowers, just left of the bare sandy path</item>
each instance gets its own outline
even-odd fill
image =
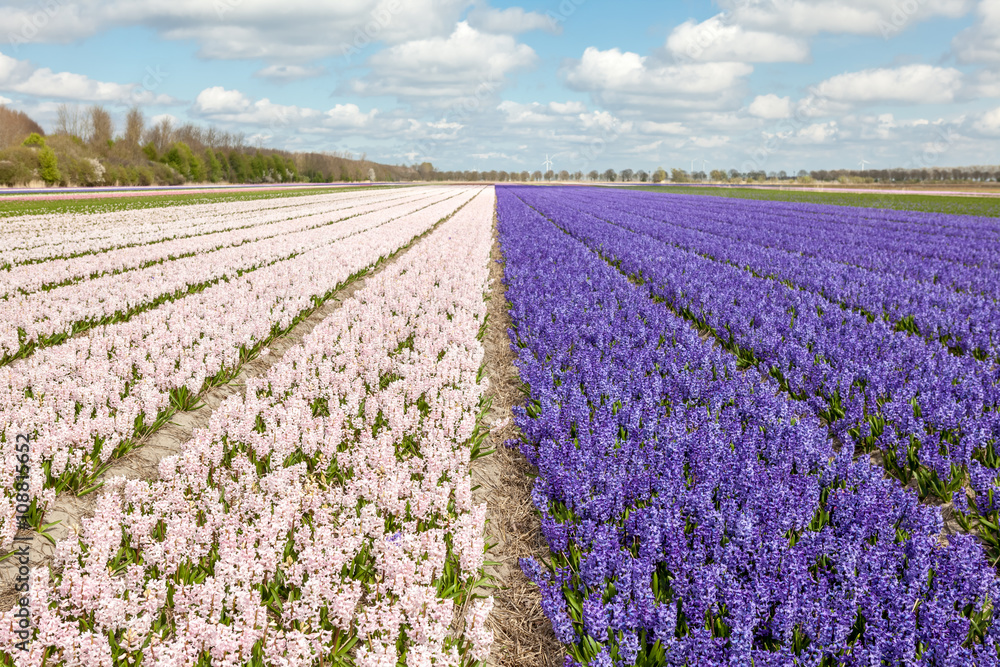
[[[16,528],[10,491],[16,434],[36,438],[31,498],[45,503],[56,486],[82,488],[103,462],[154,426],[172,399],[177,404],[224,379],[318,299],[430,229],[474,192],[452,190],[448,199],[411,207],[406,215],[353,218],[342,223],[352,236],[0,367],[0,544],[10,545]]]

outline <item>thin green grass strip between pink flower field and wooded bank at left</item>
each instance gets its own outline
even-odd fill
[[[165,206],[192,206],[195,204],[219,204],[226,202],[253,201],[257,199],[285,199],[311,195],[352,192],[356,190],[384,189],[392,186],[364,186],[353,188],[304,188],[301,190],[195,192],[176,195],[150,195],[143,197],[115,197],[99,199],[55,199],[5,201],[0,196],[0,219],[20,215],[43,215],[60,213],[113,213],[133,209],[162,208]]]

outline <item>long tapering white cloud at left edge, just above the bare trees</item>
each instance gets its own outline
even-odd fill
[[[166,95],[156,95],[139,84],[111,83],[73,72],[53,72],[0,53],[0,90],[34,97],[79,102],[125,104],[175,104]]]

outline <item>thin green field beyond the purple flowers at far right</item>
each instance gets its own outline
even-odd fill
[[[836,206],[866,206],[897,211],[925,211],[1000,217],[1000,199],[996,197],[969,197],[924,194],[885,194],[862,192],[795,192],[758,188],[699,188],[688,186],[637,186],[635,190],[665,192],[685,195],[709,195],[737,199],[833,204]]]

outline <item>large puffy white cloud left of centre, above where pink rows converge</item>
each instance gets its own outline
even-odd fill
[[[363,95],[430,100],[440,106],[461,101],[481,106],[502,87],[506,75],[531,67],[531,47],[509,35],[480,32],[460,22],[447,37],[399,44],[369,60],[371,74],[354,82]]]

